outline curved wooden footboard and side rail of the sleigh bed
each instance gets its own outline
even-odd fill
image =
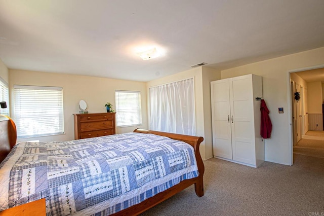
[[[187,142],[189,145],[191,145],[195,151],[195,157],[197,161],[198,171],[199,175],[195,178],[186,179],[182,182],[180,182],[178,185],[175,185],[171,188],[169,188],[166,191],[160,192],[153,197],[150,197],[143,202],[133,205],[127,209],[118,211],[117,213],[114,213],[112,215],[138,215],[149,208],[157,205],[160,202],[165,201],[166,199],[172,197],[173,195],[179,193],[180,191],[186,189],[187,187],[194,184],[195,192],[198,197],[204,196],[204,181],[203,176],[205,172],[205,166],[203,163],[203,160],[201,159],[200,153],[199,153],[199,145],[204,140],[201,136],[189,136],[189,135],[182,135],[182,134],[176,134],[176,133],[168,133],[168,132],[160,132],[160,131],[153,131],[153,130],[144,130],[144,129],[135,129],[134,132],[137,133],[152,133],[156,135],[161,136],[167,136],[172,139],[181,140],[184,142]]]

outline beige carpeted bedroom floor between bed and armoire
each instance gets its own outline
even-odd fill
[[[193,186],[141,215],[324,215],[324,158],[294,154],[294,165],[252,168],[212,158],[205,195]]]

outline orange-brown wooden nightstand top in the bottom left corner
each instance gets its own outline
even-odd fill
[[[0,211],[0,216],[46,215],[45,198]]]

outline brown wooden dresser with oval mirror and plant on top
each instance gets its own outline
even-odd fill
[[[116,113],[73,114],[74,139],[116,134]]]

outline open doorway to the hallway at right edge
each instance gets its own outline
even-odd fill
[[[324,67],[291,73],[290,79],[293,155],[324,158]]]

